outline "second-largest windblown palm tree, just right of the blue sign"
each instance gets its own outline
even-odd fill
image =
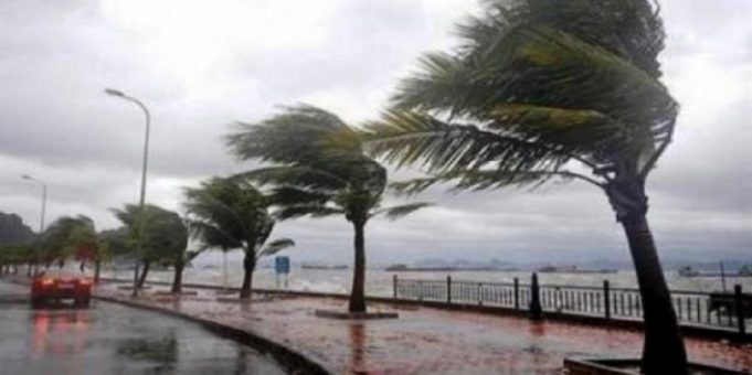
[[[354,274],[348,309],[366,312],[366,224],[382,213],[398,218],[426,204],[381,207],[386,170],[363,154],[354,129],[316,107],[290,107],[260,124],[240,124],[227,142],[243,160],[274,163],[244,175],[273,186],[279,218],[341,215],[352,224]]]

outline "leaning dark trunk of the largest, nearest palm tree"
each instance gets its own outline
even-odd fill
[[[642,369],[648,375],[687,374],[687,353],[647,218],[644,214],[631,215],[622,219],[622,225],[643,299]]]

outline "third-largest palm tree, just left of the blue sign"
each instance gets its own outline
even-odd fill
[[[200,188],[186,190],[191,235],[208,248],[240,248],[245,254],[241,299],[251,298],[257,260],[295,245],[282,238],[264,246],[275,225],[269,204],[267,195],[241,179],[213,178]]]

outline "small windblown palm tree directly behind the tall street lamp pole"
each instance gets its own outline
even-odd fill
[[[123,210],[113,210],[115,216],[128,228],[129,243],[138,238],[140,207],[127,204]],[[188,229],[177,213],[147,204],[144,206],[141,254],[135,256],[144,262],[137,288],[144,287],[152,262],[170,261],[174,254],[183,254],[188,246]],[[129,246],[134,248],[134,246]]]

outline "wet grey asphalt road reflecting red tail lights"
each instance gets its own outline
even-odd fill
[[[198,324],[99,301],[33,311],[27,296],[0,281],[1,374],[284,374]]]

